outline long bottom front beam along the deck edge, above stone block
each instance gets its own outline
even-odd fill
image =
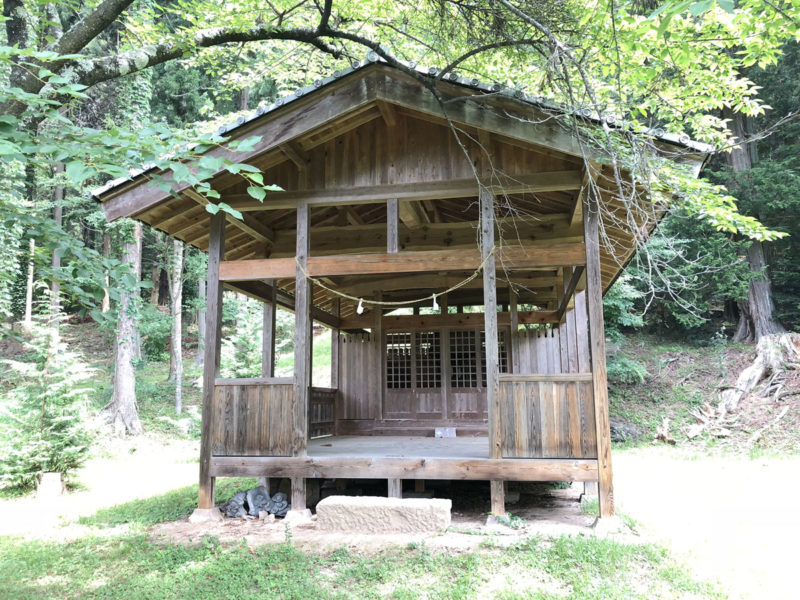
[[[216,456],[214,477],[597,481],[592,459]]]

